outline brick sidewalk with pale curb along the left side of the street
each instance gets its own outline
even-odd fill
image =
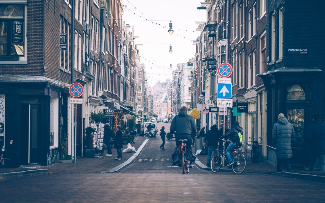
[[[142,143],[146,140],[145,137],[137,135],[135,138],[135,144],[132,144],[138,150]],[[127,147],[123,145],[122,151]],[[79,158],[77,163],[57,163],[48,166],[29,166],[19,168],[0,168],[0,173],[5,172],[16,172],[16,171],[28,171],[35,169],[46,169],[47,172],[51,173],[93,173],[99,171],[108,171],[117,165],[123,163],[129,159],[135,153],[124,153],[122,152],[122,161],[115,160],[117,157],[116,149],[112,149],[112,156],[105,156],[107,150],[105,150],[103,158]]]

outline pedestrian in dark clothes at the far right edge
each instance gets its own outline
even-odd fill
[[[309,144],[309,171],[315,170],[316,159],[319,160],[319,171],[325,171],[325,123],[318,113],[313,115],[313,123],[308,126],[306,139]]]

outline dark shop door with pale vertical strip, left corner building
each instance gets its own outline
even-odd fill
[[[40,105],[21,104],[20,164],[41,163]]]

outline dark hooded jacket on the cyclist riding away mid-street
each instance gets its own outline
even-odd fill
[[[175,133],[176,131],[176,133]],[[170,126],[170,133],[175,133],[175,136],[189,135],[196,133],[194,118],[182,111],[173,118]]]

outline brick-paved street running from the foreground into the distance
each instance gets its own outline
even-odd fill
[[[119,173],[57,173],[1,182],[2,202],[323,202],[324,183],[265,174],[203,171],[172,165],[175,139],[150,138]],[[126,153],[123,153],[123,156]],[[97,160],[97,159],[94,159]],[[72,166],[72,164],[71,164]],[[19,193],[17,193],[19,191]]]

